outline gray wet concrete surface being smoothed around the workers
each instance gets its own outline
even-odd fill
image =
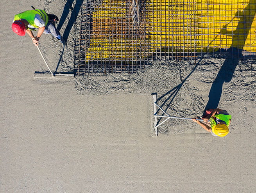
[[[219,108],[233,116],[229,135],[214,137],[191,121],[168,120],[155,137],[151,92],[163,96],[195,66],[159,58],[139,74],[34,79],[45,65],[30,37],[12,32],[14,14],[34,5],[61,16],[65,3],[0,3],[0,192],[256,191],[255,64],[252,70],[239,64],[223,85]],[[62,70],[73,67],[76,25]],[[40,42],[54,69],[61,44],[50,35]],[[201,115],[223,62],[200,62],[175,100],[168,106],[167,95],[159,103],[173,116]]]

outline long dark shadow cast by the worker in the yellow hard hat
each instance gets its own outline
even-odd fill
[[[230,48],[226,50],[227,59],[224,61],[220,71],[217,74],[217,77],[211,85],[211,89],[209,91],[209,100],[206,104],[204,112],[207,109],[215,109],[218,107],[222,94],[223,83],[231,81],[233,77],[236,66],[242,57],[243,46],[254,20],[256,13],[255,3],[256,0],[250,0],[249,4],[243,11],[236,12],[235,18],[239,19],[239,21],[235,30],[227,31],[227,25],[225,25],[220,31],[220,34],[232,36],[232,43]]]

